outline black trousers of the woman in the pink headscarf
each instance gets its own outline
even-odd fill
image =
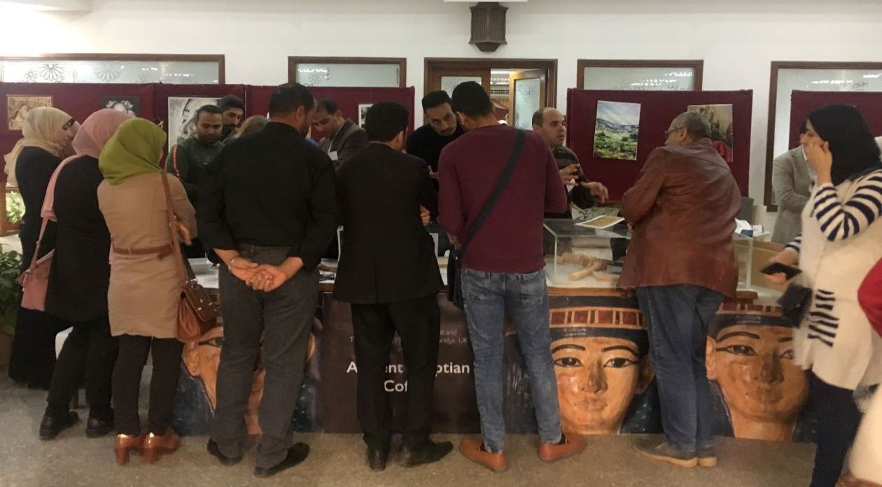
[[[112,421],[110,382],[117,347],[116,338],[110,335],[107,315],[91,321],[73,322],[73,330],[64,341],[52,373],[46,414],[64,415],[79,385],[85,382],[89,416]]]

